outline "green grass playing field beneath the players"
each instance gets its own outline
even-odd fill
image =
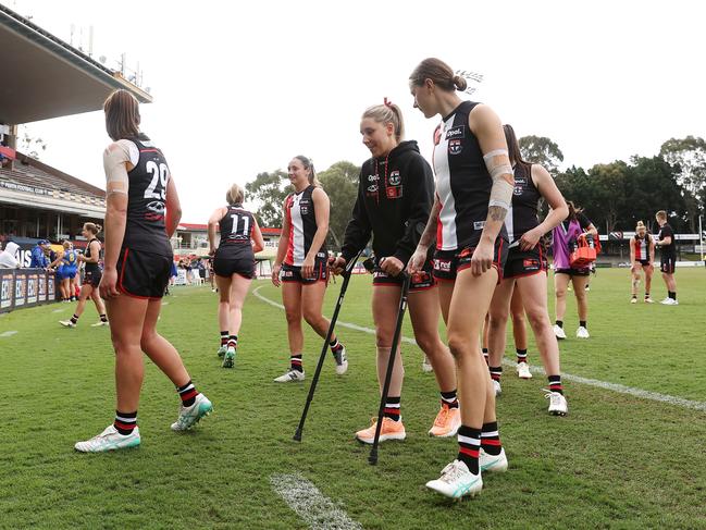
[[[655,280],[653,297],[661,299],[665,287]],[[148,361],[143,446],[83,455],[74,442],[112,421],[109,330],[89,326],[92,307],[75,330],[57,323],[73,305],[4,315],[0,528],[335,528],[297,515],[273,490],[272,478],[282,474],[295,503],[306,502],[302,478],[331,500],[310,513],[347,514],[348,526],[338,528],[355,528],[350,521],[369,529],[706,528],[706,272],[680,269],[677,280],[679,307],[630,305],[629,272],[600,270],[591,283],[589,341],[573,338],[569,301],[562,370],[689,399],[696,409],[567,381],[569,416],[550,417],[544,378],[521,381],[506,368],[498,418],[510,469],[486,474],[483,494],[461,503],[424,488],[455,456],[456,442],[426,435],[438,394],[414,346],[404,346],[408,437],[383,445],[372,467],[368,448],[352,439],[376,412],[372,335],[339,330],[350,369],[338,378],[326,359],[298,444],[292,435],[321,341],[307,333],[305,384],[273,383],[288,359],[284,315],[250,295],[236,368],[224,370],[215,357],[216,295],[176,288],[165,298],[160,331],[181,350],[214,414],[193,432],[172,433],[178,400]],[[340,320],[372,326],[369,285],[369,276],[354,278]],[[269,282],[253,287],[280,301]],[[329,288],[329,315],[338,287]],[[408,325],[405,334],[411,336]],[[530,362],[538,362],[533,343]]]

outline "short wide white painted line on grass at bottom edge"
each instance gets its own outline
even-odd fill
[[[270,483],[277,495],[313,530],[363,528],[300,474],[273,474]]]

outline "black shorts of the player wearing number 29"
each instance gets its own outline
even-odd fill
[[[123,248],[117,258],[117,291],[135,298],[162,298],[171,272],[171,257]]]

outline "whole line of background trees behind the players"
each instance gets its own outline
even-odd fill
[[[559,170],[563,153],[544,136],[519,139],[522,158],[552,173],[567,198],[584,209],[600,233],[631,232],[637,221],[656,232],[655,212],[666,210],[676,232],[695,233],[706,200],[706,140],[671,138],[654,157],[631,157],[583,169]],[[331,199],[329,243],[339,248],[358,192],[360,167],[336,162],[318,174]],[[282,206],[293,192],[282,170],[259,173],[246,184],[262,226],[282,226]]]

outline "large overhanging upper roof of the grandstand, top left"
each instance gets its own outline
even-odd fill
[[[16,125],[100,110],[116,88],[149,94],[0,4],[0,123]]]

